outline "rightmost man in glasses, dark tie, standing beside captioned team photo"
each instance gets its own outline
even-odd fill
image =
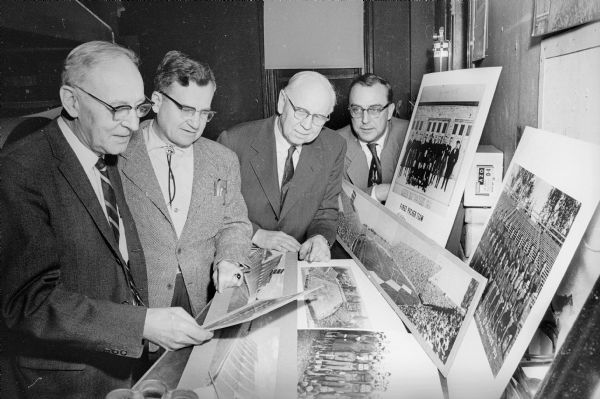
[[[392,116],[395,109],[392,87],[371,73],[354,79],[349,103],[351,124],[337,131],[348,144],[344,178],[385,202],[408,121]]]

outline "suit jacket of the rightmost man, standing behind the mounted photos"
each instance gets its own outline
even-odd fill
[[[407,129],[407,120],[392,118],[389,122],[388,135],[383,144],[380,157],[381,168],[383,169],[382,183],[389,184],[394,178],[394,171],[398,164]],[[372,190],[372,187],[368,186],[370,165],[367,164],[367,157],[360,147],[356,134],[352,131],[352,125],[347,125],[337,132],[348,144],[344,162],[344,179],[349,180],[362,191],[370,193]]]

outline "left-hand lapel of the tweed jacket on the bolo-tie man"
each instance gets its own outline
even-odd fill
[[[173,223],[171,223],[169,210],[156,179],[154,167],[152,166],[152,162],[150,162],[141,130],[135,132],[131,137],[127,150],[121,155],[119,168],[121,168],[123,175],[127,179],[146,194],[150,202],[154,204],[172,226]]]

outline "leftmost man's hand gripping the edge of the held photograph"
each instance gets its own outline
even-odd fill
[[[168,351],[199,345],[212,338],[182,308],[149,308],[144,322],[144,338]]]

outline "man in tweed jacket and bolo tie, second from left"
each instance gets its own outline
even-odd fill
[[[218,290],[242,283],[251,226],[233,151],[200,137],[214,111],[207,65],[169,51],[144,121],[121,154],[125,198],[146,254],[150,307],[179,306],[196,316]],[[153,347],[151,347],[153,349]]]

